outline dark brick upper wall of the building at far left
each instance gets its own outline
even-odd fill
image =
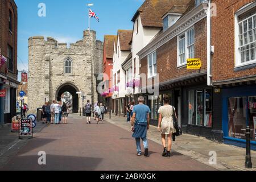
[[[18,26],[18,16],[17,7],[13,0],[1,0],[0,6],[0,48],[1,55],[7,57],[7,45],[9,44],[13,47],[13,57],[14,57],[14,72],[8,72],[7,74],[11,77],[16,78],[17,73],[17,26]],[[9,10],[13,15],[13,31],[9,32]],[[7,64],[0,69],[0,72],[5,74],[7,71]]]

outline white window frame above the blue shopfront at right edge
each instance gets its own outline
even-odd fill
[[[256,36],[254,34],[254,32],[256,33],[256,22],[252,21],[252,29],[251,31],[253,32],[253,41],[249,43],[249,24],[248,24],[248,21],[249,19],[252,19],[255,17],[256,19],[256,13],[249,16],[249,17],[246,17],[242,20],[240,20],[238,22],[238,17],[242,14],[247,14],[247,13],[250,13],[251,10],[254,9],[254,5],[256,3],[253,2],[253,3],[250,3],[249,5],[245,5],[244,7],[242,7],[242,9],[238,10],[238,12],[235,14],[234,16],[234,27],[235,27],[235,55],[236,55],[236,61],[235,61],[235,65],[234,65],[234,68],[239,68],[239,67],[244,67],[246,65],[251,65],[251,64],[255,64],[256,63]],[[247,22],[247,44],[244,43],[244,40],[242,38],[242,41],[243,41],[243,46],[240,46],[240,36],[244,36],[244,23],[243,22]],[[242,23],[242,34],[240,34],[240,24]],[[251,60],[251,44],[254,44],[254,60]],[[249,46],[249,61],[246,61],[246,46]],[[245,49],[245,57],[244,57],[244,62],[242,63],[242,51],[241,49],[244,48]]]

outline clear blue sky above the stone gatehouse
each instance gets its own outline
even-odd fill
[[[116,35],[118,29],[133,28],[131,19],[143,0],[15,0],[18,6],[18,69],[27,70],[27,40],[31,36],[51,36],[61,43],[75,43],[88,28],[87,3],[100,18],[90,19],[97,39]],[[46,17],[39,17],[39,3],[46,5]]]

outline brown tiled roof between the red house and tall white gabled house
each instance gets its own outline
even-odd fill
[[[130,51],[131,46],[129,43],[131,42],[131,38],[133,36],[132,30],[118,30],[120,49],[121,51]]]

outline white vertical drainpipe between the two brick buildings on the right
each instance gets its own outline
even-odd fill
[[[207,85],[212,86],[212,65],[211,65],[211,45],[210,45],[210,0],[208,1],[207,10]]]

